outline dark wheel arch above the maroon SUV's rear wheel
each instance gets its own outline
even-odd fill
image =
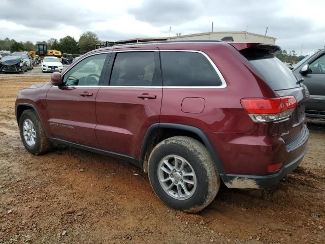
[[[175,131],[177,131],[177,133],[175,133]],[[166,132],[168,132],[167,137],[166,134],[164,136],[164,133]],[[172,133],[169,134],[170,132]],[[223,175],[225,174],[223,165],[208,136],[197,127],[173,123],[153,124],[146,131],[140,150],[140,161],[143,164],[144,172],[148,172],[148,154],[150,154],[150,151],[153,149],[153,147],[160,141],[177,135],[189,136],[202,142],[208,149],[221,178],[223,177]]]

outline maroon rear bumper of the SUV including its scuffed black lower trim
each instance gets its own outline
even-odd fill
[[[269,188],[277,185],[303,160],[308,149],[309,131],[303,125],[300,133],[286,142],[281,137],[232,135],[231,139],[225,140],[222,136],[229,135],[213,137],[210,133],[209,136],[225,169],[220,176],[228,188]],[[216,138],[223,141],[220,143]],[[279,171],[268,171],[270,165],[279,163],[282,164]]]

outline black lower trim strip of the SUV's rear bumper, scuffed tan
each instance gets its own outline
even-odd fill
[[[270,188],[278,184],[280,179],[296,169],[307,152],[307,142],[302,153],[292,162],[284,165],[277,173],[272,175],[223,175],[224,184],[228,188]]]

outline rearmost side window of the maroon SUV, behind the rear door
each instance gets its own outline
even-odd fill
[[[161,51],[164,86],[220,86],[209,60],[198,52]]]

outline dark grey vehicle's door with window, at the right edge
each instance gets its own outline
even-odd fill
[[[306,110],[325,114],[325,54],[321,54],[309,64],[309,68],[311,72],[303,76],[305,79],[303,84],[310,93]]]

